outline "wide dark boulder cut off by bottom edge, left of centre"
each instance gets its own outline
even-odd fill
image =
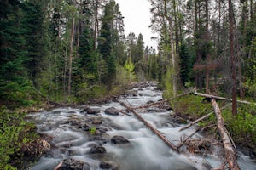
[[[59,168],[60,170],[90,170],[90,165],[84,161],[77,161],[72,158],[67,158]]]

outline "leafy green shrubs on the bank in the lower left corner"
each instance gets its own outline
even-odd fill
[[[16,169],[10,166],[14,162],[11,157],[19,156],[22,144],[38,138],[34,125],[23,121],[23,116],[9,112],[4,108],[0,111],[0,169]],[[21,153],[22,154],[22,153]]]

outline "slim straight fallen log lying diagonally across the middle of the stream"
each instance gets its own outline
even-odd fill
[[[166,137],[161,134],[155,127],[153,127],[149,122],[147,122],[142,116],[140,116],[137,111],[135,111],[131,105],[125,104],[124,102],[120,103],[121,105],[123,105],[128,111],[131,111],[135,116],[137,116],[137,119],[140,120],[141,122],[143,122],[145,124],[146,127],[148,127],[152,133],[156,134],[160,139],[162,139],[170,148],[172,148],[172,150],[177,151],[177,153],[179,153],[179,150],[177,150],[177,147],[172,144],[168,139],[166,139]]]

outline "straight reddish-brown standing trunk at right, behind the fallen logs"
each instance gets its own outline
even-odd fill
[[[232,84],[232,114],[237,114],[236,103],[236,59],[234,48],[234,14],[233,3],[229,0],[229,20],[230,20],[230,64],[231,64],[231,84]]]

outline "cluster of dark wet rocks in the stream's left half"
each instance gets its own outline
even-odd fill
[[[95,142],[94,144],[90,144],[90,150],[88,151],[88,154],[91,157],[95,158],[101,158],[102,156],[105,156],[107,153],[106,148],[103,146],[103,144],[111,143],[111,144],[129,144],[130,141],[128,139],[125,139],[123,136],[113,136],[113,138],[108,139],[108,135],[106,135],[106,132],[110,130],[110,127],[108,127],[108,119],[102,118],[99,115],[101,112],[98,108],[90,108],[89,106],[84,106],[84,108],[81,110],[82,113],[84,113],[84,116],[88,115],[94,115],[94,116],[88,116],[86,120],[83,122],[81,119],[77,117],[70,117],[67,122],[63,122],[63,124],[68,124],[69,126],[73,126],[76,129],[80,129],[84,132],[87,132],[87,135],[89,137],[89,141]],[[106,115],[110,116],[119,116],[119,111],[114,107],[109,107],[104,111]],[[95,133],[90,133],[90,129],[94,127],[96,129]],[[113,125],[111,125],[113,127]],[[120,127],[117,127],[120,128]],[[107,137],[106,137],[107,136]],[[70,146],[67,146],[67,148]],[[72,156],[72,154],[70,154]],[[108,161],[101,161],[99,164],[99,167],[101,169],[118,169],[116,165],[113,165],[112,162]],[[74,160],[73,158],[67,158],[63,161],[60,170],[88,170],[90,169],[90,164],[88,162]]]

